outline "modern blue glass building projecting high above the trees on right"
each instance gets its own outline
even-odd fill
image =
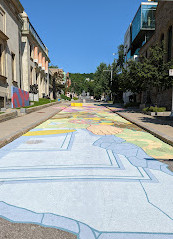
[[[142,2],[124,37],[125,59],[139,55],[140,48],[150,39],[155,30],[157,2]]]

